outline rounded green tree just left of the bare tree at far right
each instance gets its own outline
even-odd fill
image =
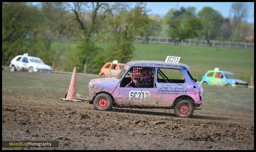
[[[216,37],[216,31],[220,29],[220,23],[223,20],[222,15],[211,7],[204,7],[198,12],[199,19],[203,25],[202,34],[211,46],[210,39]]]

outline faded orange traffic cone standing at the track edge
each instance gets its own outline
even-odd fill
[[[61,100],[64,101],[82,101],[82,100],[76,100],[76,67],[74,68],[69,89],[68,89],[68,95],[66,98],[61,98]]]

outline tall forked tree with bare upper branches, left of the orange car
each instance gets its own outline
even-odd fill
[[[93,49],[97,48],[95,43],[92,41],[92,34],[93,31],[95,31],[95,27],[99,25],[99,22],[106,18],[107,14],[111,14],[112,11],[118,9],[120,4],[101,2],[73,2],[72,4],[66,3],[66,5],[68,6],[68,9],[70,11],[74,12],[74,19],[79,23],[82,29],[83,36],[83,41],[80,41],[80,44],[78,46],[78,49],[81,50],[73,50],[70,53],[74,53],[79,56],[80,64],[88,64],[90,62],[90,59],[94,57],[92,56],[93,54],[95,54],[95,50]],[[84,18],[85,16],[90,17]],[[69,56],[74,56],[70,55],[70,53]],[[72,61],[69,63],[72,64]]]

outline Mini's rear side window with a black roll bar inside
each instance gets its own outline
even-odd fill
[[[159,68],[157,70],[158,83],[185,83],[183,74],[178,69]]]

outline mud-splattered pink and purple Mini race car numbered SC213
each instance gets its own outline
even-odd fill
[[[202,85],[182,63],[130,61],[116,77],[92,79],[88,101],[97,110],[169,108],[191,117],[203,103]]]

